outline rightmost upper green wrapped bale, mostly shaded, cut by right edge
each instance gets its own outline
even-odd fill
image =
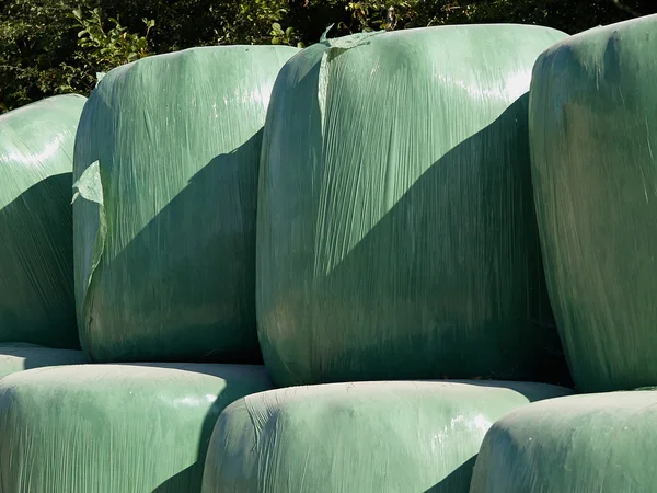
[[[531,85],[545,276],[581,391],[657,381],[657,15],[553,46]]]

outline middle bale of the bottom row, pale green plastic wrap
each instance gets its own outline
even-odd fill
[[[217,422],[203,493],[468,492],[488,427],[570,393],[541,383],[395,381],[249,395]]]

